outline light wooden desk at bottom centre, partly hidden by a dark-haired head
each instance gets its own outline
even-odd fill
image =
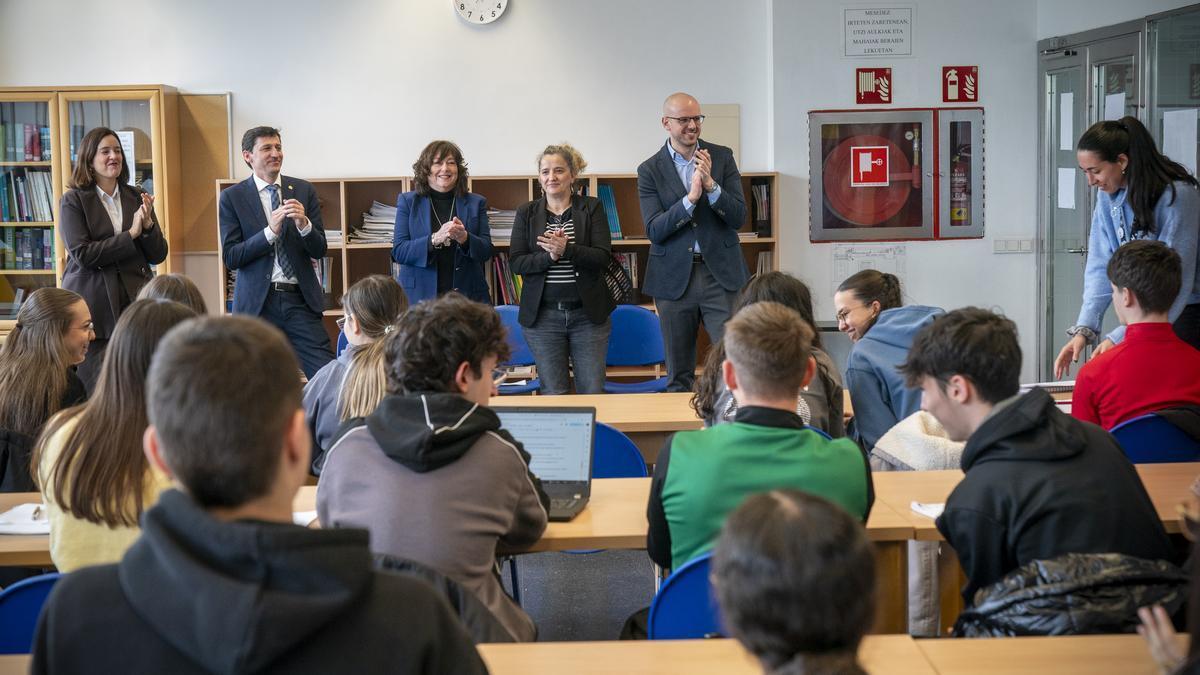
[[[526,643],[479,645],[492,675],[760,675],[762,667],[734,640]],[[907,635],[868,635],[858,650],[868,671],[934,675]]]

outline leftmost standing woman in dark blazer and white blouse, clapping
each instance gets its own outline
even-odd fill
[[[118,317],[154,276],[150,265],[167,259],[154,197],[128,181],[130,167],[116,132],[89,131],[59,207],[59,233],[67,247],[62,287],[83,295],[96,329],[96,340],[79,365],[79,378],[89,392]]]

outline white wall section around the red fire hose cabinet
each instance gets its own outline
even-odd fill
[[[806,112],[854,107],[854,68],[890,66],[893,107],[941,106],[943,65],[979,66],[984,115],[986,237],[907,244],[905,299],[978,305],[1013,318],[1036,374],[1037,263],[1032,253],[992,252],[996,238],[1037,235],[1037,61],[1034,0],[924,0],[917,4],[913,55],[842,58],[841,5],[773,2],[773,151],[781,172],[784,268],[812,287],[817,318],[832,319],[833,244],[812,244],[809,225]],[[803,36],[803,37],[800,37]]]

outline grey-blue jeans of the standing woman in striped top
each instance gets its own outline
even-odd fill
[[[533,325],[524,329],[524,336],[538,364],[541,393],[566,394],[570,390],[570,358],[575,371],[575,393],[602,394],[611,330],[611,319],[601,324],[592,323],[582,307],[540,307]]]

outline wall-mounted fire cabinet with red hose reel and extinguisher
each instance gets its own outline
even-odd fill
[[[983,237],[983,109],[809,113],[810,239]]]

